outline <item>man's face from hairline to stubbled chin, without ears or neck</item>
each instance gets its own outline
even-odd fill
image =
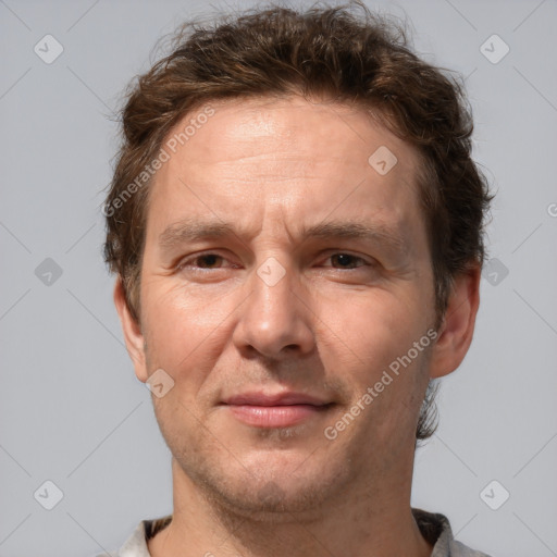
[[[187,478],[240,508],[388,485],[411,470],[435,321],[418,156],[338,104],[212,107],[148,208],[136,372],[174,380],[153,398],[164,438]]]

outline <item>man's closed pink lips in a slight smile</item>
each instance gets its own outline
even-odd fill
[[[247,425],[289,428],[322,416],[334,403],[301,393],[245,393],[226,398],[221,406]]]

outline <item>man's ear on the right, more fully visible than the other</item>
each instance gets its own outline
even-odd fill
[[[437,342],[432,350],[430,376],[447,375],[456,370],[468,351],[480,305],[481,268],[473,268],[454,280],[447,310],[438,330]]]

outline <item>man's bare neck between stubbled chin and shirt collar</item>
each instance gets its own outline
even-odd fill
[[[199,488],[173,459],[172,522],[149,541],[151,557],[429,557],[410,509],[411,471],[345,491],[318,510],[248,515]],[[359,485],[362,485],[360,483]],[[247,486],[248,488],[248,486]]]

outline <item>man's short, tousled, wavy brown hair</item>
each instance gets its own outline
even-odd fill
[[[134,318],[140,317],[151,183],[146,175],[141,187],[137,176],[169,132],[210,101],[298,95],[356,104],[421,154],[417,178],[441,320],[453,278],[483,262],[491,200],[486,180],[471,159],[472,117],[459,79],[419,59],[400,23],[372,14],[359,0],[306,12],[271,5],[208,25],[189,22],[172,48],[127,92],[122,146],[103,208],[106,261],[122,278]],[[418,440],[433,432],[430,395],[431,389]]]

